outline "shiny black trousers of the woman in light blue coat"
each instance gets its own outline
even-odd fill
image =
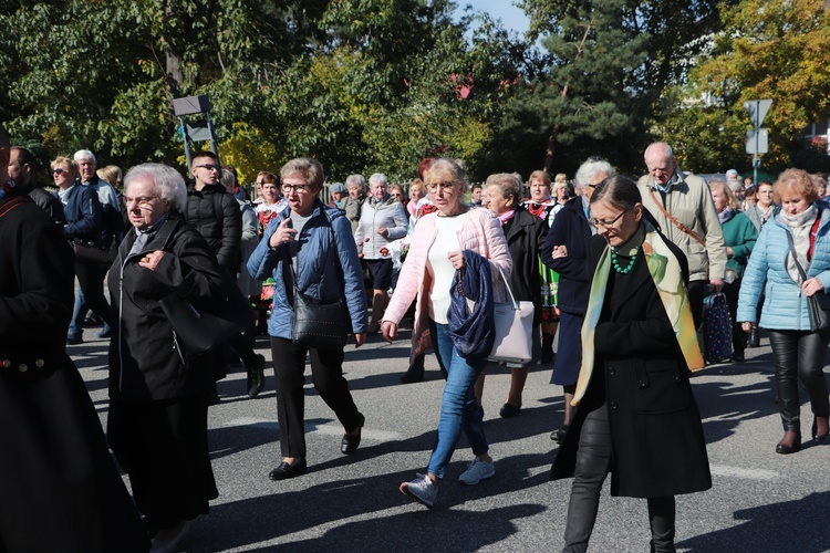
[[[813,415],[827,417],[830,401],[824,378],[824,358],[830,331],[769,331],[769,343],[772,346],[778,408],[781,410],[785,431],[801,430],[798,379],[807,390]]]

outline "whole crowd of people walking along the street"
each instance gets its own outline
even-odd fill
[[[513,418],[528,372],[543,365],[564,398],[550,417],[560,445],[550,478],[573,478],[564,551],[587,550],[609,473],[612,495],[646,500],[652,551],[674,551],[675,495],[712,486],[689,380],[705,364],[707,295],[726,298],[733,361],[759,327],[769,337],[784,429],[775,451],[795,453],[806,439],[799,380],[809,438],[830,435],[830,321],[819,321],[818,301],[830,290],[830,208],[823,182],[799,169],[775,184],[741,182],[737,171],[707,182],[681,170],[665,143],[645,149],[644,165],[639,180],[590,158],[572,180],[505,173],[470,187],[461,160],[429,158],[408,186],[374,174],[366,187],[355,174],[324,200],[324,168],[312,158],[259,171],[251,198],[212,152],[191,156],[189,184],[162,164],[135,166],[122,184],[117,168],[96,171],[81,150],[51,163],[50,195],[33,182],[31,154],[0,127],[0,259],[10,268],[0,272],[0,418],[49,414],[42,447],[0,425],[0,441],[23,451],[0,456],[0,473],[15,474],[0,477],[2,488],[19,503],[0,502],[0,550],[176,551],[219,494],[208,408],[222,400],[216,382],[235,359],[251,397],[266,366],[274,371],[281,460],[271,480],[309,470],[307,357],[343,427],[340,450],[353,455],[366,417],[343,375],[346,340],[392,342],[412,316],[402,382],[423,379],[430,351],[446,382],[426,468],[401,492],[434,507],[461,436],[471,459],[453,478],[495,477],[481,408],[488,369],[509,369],[499,416]],[[168,300],[224,316],[217,305],[239,291],[247,302],[237,311],[250,316],[206,353],[194,349]],[[527,335],[510,336],[532,345],[522,363],[489,359],[494,305],[509,296],[533,306]],[[83,343],[89,310],[111,340],[106,434],[66,355]],[[270,359],[255,351],[261,334]],[[73,463],[61,472],[70,476],[38,470],[54,456]],[[49,476],[37,488],[32,470]],[[46,503],[61,515],[32,538],[27,513]]]

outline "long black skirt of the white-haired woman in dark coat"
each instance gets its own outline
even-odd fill
[[[219,497],[207,439],[207,398],[110,401],[107,438],[129,476],[147,530],[172,528]]]

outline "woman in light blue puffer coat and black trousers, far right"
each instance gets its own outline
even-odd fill
[[[801,448],[797,377],[810,397],[813,440],[821,442],[829,434],[830,401],[823,368],[830,328],[810,330],[807,299],[830,290],[830,209],[818,201],[818,190],[803,170],[787,169],[774,190],[781,208],[761,229],[749,258],[737,320],[745,332],[756,324],[769,331],[784,425],[784,438],[776,451],[787,455]],[[761,293],[766,299],[757,322]]]

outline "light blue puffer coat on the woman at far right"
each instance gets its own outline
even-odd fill
[[[818,278],[830,291],[830,209],[823,202],[819,208],[818,234],[810,265],[805,268],[807,278]],[[810,313],[807,298],[787,272],[790,232],[780,220],[780,211],[761,228],[758,241],[744,271],[738,298],[737,320],[756,322],[756,305],[761,291],[765,294],[759,326],[772,330],[809,331]]]

